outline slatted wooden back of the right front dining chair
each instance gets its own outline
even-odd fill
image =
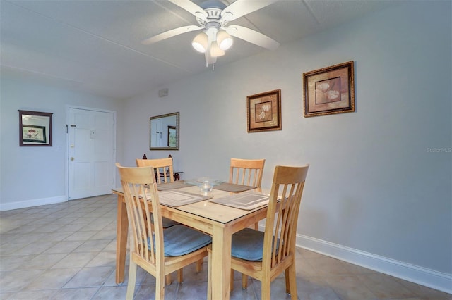
[[[308,168],[309,165],[275,167],[263,242],[263,268],[274,268],[295,255],[299,206]]]

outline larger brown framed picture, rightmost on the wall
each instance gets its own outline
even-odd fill
[[[303,73],[304,118],[355,111],[353,61]]]

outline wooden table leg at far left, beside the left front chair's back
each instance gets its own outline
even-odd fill
[[[129,220],[127,219],[124,196],[118,195],[117,206],[116,283],[119,285],[121,282],[124,282],[127,252],[127,230],[129,230]]]

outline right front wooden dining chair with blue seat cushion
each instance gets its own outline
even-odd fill
[[[285,272],[286,292],[297,299],[295,277],[295,237],[299,206],[309,165],[287,167],[277,165],[270,191],[266,229],[264,232],[245,228],[232,235],[231,268],[242,273],[242,287],[247,287],[247,276],[261,281],[261,299],[270,299],[270,283]],[[282,200],[278,200],[282,199]],[[210,246],[209,265],[210,268]],[[233,287],[231,276],[230,288]],[[211,297],[208,274],[208,299]]]

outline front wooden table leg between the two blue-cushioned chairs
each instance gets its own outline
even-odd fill
[[[212,299],[229,299],[231,275],[231,229],[213,225]]]

